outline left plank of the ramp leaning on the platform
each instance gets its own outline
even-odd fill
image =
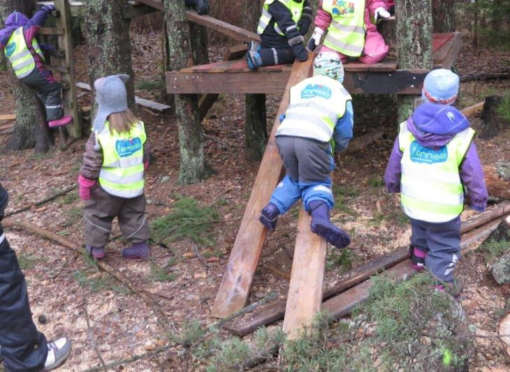
[[[268,230],[258,221],[261,209],[269,201],[272,191],[277,186],[282,172],[282,160],[275,144],[275,134],[279,126],[279,115],[289,105],[290,89],[298,82],[309,77],[313,64],[312,53],[305,62],[293,64],[289,82],[275,118],[275,124],[265,148],[264,156],[252,188],[245,214],[242,216],[239,232],[235,237],[234,246],[226,267],[226,272],[212,306],[212,316],[225,318],[240,311],[247,302],[249,289],[252,286],[255,269],[258,265],[262,246]]]

